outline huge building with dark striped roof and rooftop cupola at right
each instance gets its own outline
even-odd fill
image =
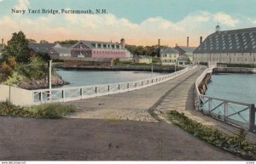
[[[193,54],[194,61],[218,64],[255,65],[256,27],[231,31],[216,31],[209,35]]]

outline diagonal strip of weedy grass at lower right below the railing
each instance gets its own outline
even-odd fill
[[[247,142],[245,132],[241,130],[237,136],[228,136],[216,129],[203,126],[201,123],[195,122],[184,116],[183,113],[172,110],[168,113],[169,120],[186,132],[206,141],[223,150],[230,151],[247,160],[256,160],[256,145]]]

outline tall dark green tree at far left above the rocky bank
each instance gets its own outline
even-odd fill
[[[22,31],[15,32],[8,45],[3,48],[3,60],[13,56],[18,63],[28,63],[30,59],[28,52],[28,40],[25,34]]]

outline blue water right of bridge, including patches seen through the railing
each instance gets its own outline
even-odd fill
[[[206,95],[241,103],[256,104],[255,83],[256,75],[254,74],[212,75],[212,82],[208,84]],[[220,103],[221,102],[216,100],[212,101],[212,105],[219,105]],[[207,109],[207,106],[204,108]],[[229,109],[229,114],[232,114],[236,111],[243,110],[244,106],[233,104],[229,105]],[[222,105],[218,107],[218,109],[214,110],[213,113],[224,115],[224,106]],[[244,123],[249,122],[249,110],[244,110],[240,113],[240,115],[230,116],[230,118]]]

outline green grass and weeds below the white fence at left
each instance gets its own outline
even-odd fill
[[[62,118],[76,111],[73,106],[61,104],[38,105],[32,107],[21,107],[11,105],[8,102],[0,103],[0,116],[23,116],[35,118]]]

